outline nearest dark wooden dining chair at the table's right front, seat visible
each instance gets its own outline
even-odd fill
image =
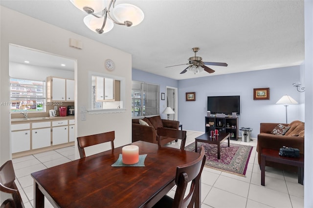
[[[201,197],[200,193],[199,195],[197,195],[196,193],[198,193],[197,189],[200,189],[200,178],[204,163],[204,147],[201,146],[199,158],[191,163],[177,166],[175,177],[175,184],[177,185],[177,187],[174,199],[165,195],[153,206],[153,208],[193,208],[195,199],[200,199]],[[191,182],[191,186],[189,192],[186,193],[187,185],[189,182]],[[200,206],[201,205],[198,204],[195,205],[195,207]]]

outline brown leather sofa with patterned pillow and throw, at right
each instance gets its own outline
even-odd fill
[[[273,129],[279,123],[261,123],[260,134],[258,135],[257,152],[258,162],[261,165],[262,148],[279,150],[282,146],[298,148],[301,154],[304,154],[304,123],[293,121],[290,124],[282,124],[290,127],[285,135],[272,134]],[[297,167],[287,166],[267,161],[266,166],[276,167],[284,170],[297,172]]]

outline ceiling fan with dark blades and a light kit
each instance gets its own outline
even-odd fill
[[[221,63],[221,62],[202,62],[202,57],[197,56],[197,52],[199,51],[200,48],[194,47],[192,48],[193,52],[195,52],[195,56],[190,57],[188,59],[188,63],[183,63],[183,64],[178,64],[178,65],[173,65],[173,66],[180,66],[180,65],[186,65],[190,64],[187,68],[185,68],[180,74],[186,73],[187,70],[193,72],[193,73],[198,73],[203,71],[206,71],[208,73],[213,73],[215,72],[213,69],[207,67],[206,65],[214,65],[214,66],[227,66],[227,63]],[[166,66],[167,67],[172,67],[172,66]]]

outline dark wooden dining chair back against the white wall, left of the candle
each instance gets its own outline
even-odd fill
[[[93,134],[83,137],[77,137],[78,151],[80,158],[86,157],[84,148],[87,146],[98,145],[101,143],[111,142],[111,148],[114,149],[115,132],[109,131],[100,134]]]

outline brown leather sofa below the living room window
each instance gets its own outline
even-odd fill
[[[171,121],[161,119],[160,116],[145,117],[141,119],[148,125],[139,124],[139,119],[132,119],[132,141],[146,141],[157,144],[156,130],[157,128],[173,128],[179,129],[179,121]],[[175,140],[175,139],[173,139]]]

